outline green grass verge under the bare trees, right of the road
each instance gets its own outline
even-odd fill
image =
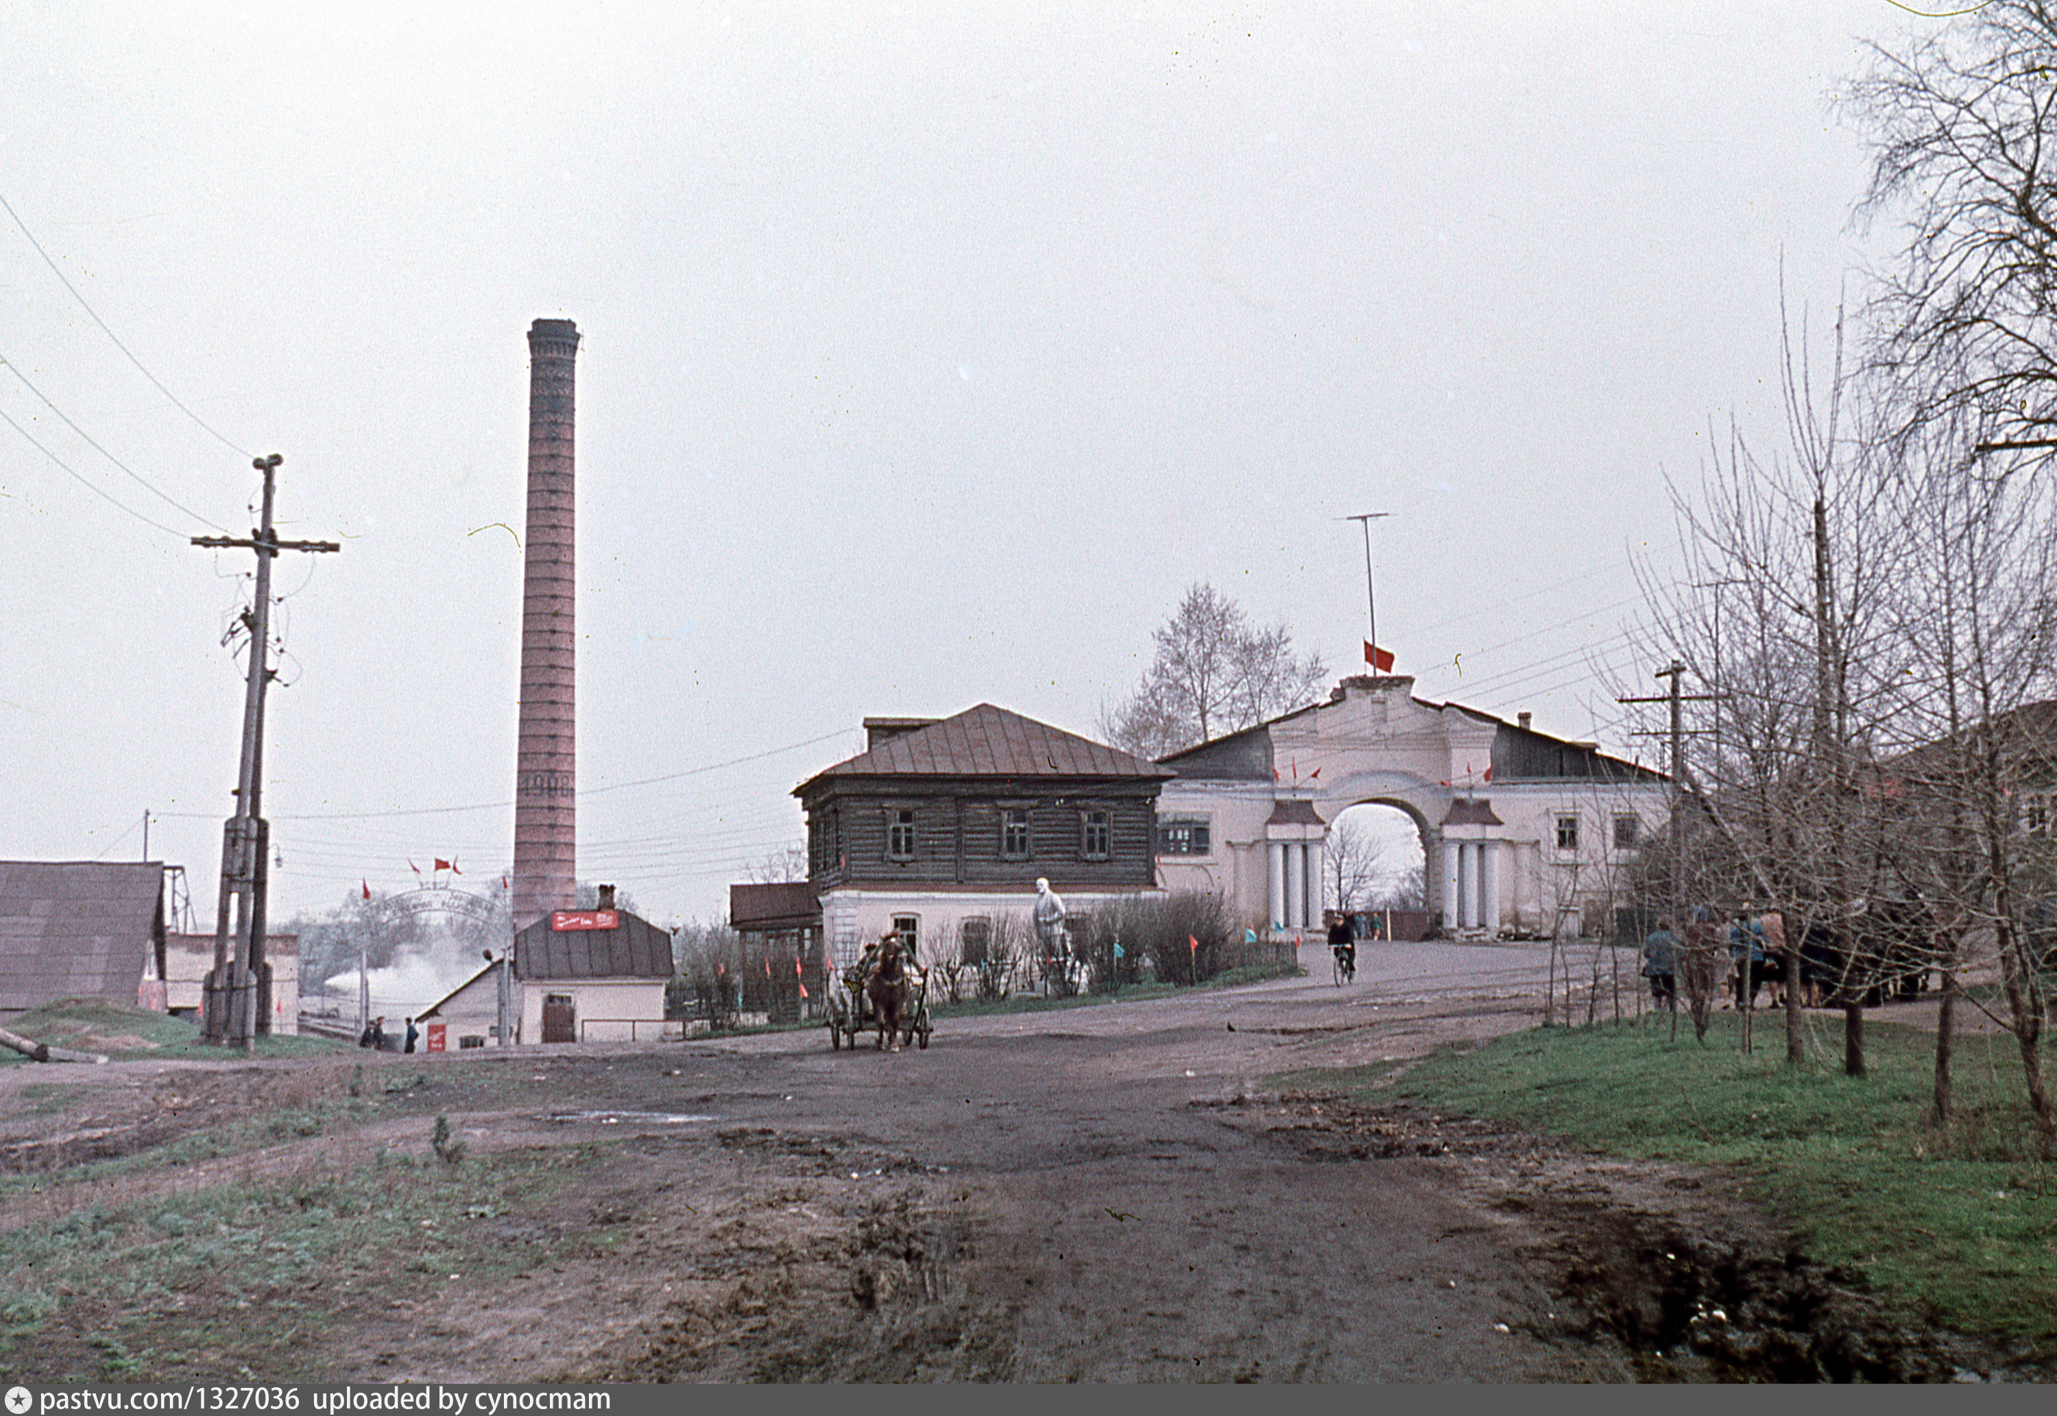
[[[1744,1056],[1738,1026],[1718,1015],[1707,1046],[1689,1028],[1670,1042],[1654,1019],[1522,1032],[1438,1052],[1393,1091],[1611,1155],[1740,1165],[1812,1258],[1952,1328],[2057,1354],[2057,1167],[2022,1097],[2014,1040],[1958,1042],[1956,1120],[1938,1128],[1934,1034],[1872,1021],[1870,1075],[1845,1077],[1827,1058],[1790,1069],[1783,1038],[1763,1030]],[[1341,1085],[1370,1093],[1376,1081]]]

